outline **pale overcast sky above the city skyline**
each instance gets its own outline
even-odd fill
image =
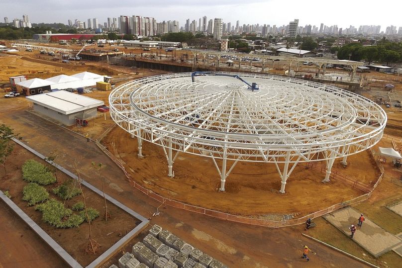
[[[402,0],[0,0],[0,18],[22,18],[27,14],[33,23],[62,22],[68,19],[87,21],[98,18],[140,15],[162,20],[198,19],[204,15],[223,18],[224,22],[236,20],[243,24],[276,24],[281,26],[298,18],[299,25],[319,26],[337,24],[402,26]],[[398,28],[397,28],[398,30]]]

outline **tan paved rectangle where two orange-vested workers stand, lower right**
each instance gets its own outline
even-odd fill
[[[351,207],[346,207],[334,213],[327,214],[324,218],[349,236],[349,227],[352,224],[357,226],[359,216],[359,212]],[[402,243],[401,239],[388,233],[367,218],[363,222],[362,227],[357,226],[353,240],[376,258]]]

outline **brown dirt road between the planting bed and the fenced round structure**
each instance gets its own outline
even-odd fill
[[[159,206],[158,202],[133,189],[122,171],[94,143],[87,143],[85,138],[28,112],[10,114],[2,117],[1,121],[10,124],[16,132],[21,133],[24,142],[44,155],[54,150],[64,152],[62,155],[65,157],[59,161],[66,168],[79,159],[84,178],[97,187],[101,185],[97,178],[92,178],[91,162],[103,163],[106,166],[105,192],[142,215],[155,212]],[[319,254],[312,256],[308,264],[303,262],[298,241],[305,241],[301,236],[303,226],[268,229],[222,221],[171,207],[163,209],[151,223],[174,232],[229,267],[296,268],[311,267],[312,264],[314,267],[364,267],[357,261],[310,241],[308,245]]]

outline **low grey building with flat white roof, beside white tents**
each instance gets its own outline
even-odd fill
[[[89,120],[97,115],[97,107],[103,101],[71,93],[65,90],[27,96],[33,102],[36,112],[55,119],[66,126],[76,124],[77,120]]]

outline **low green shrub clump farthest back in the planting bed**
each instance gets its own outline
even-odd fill
[[[22,165],[22,177],[28,182],[49,185],[56,182],[53,174],[42,164],[33,159],[25,161]]]

